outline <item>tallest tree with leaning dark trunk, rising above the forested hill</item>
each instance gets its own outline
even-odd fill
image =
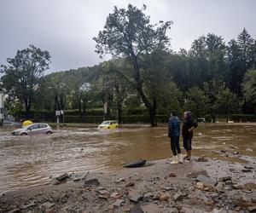
[[[166,31],[171,28],[172,21],[160,21],[159,24],[150,24],[150,18],[146,16],[143,9],[128,5],[128,9],[114,7],[113,13],[108,15],[104,30],[99,32],[96,41],[96,53],[111,54],[114,56],[128,57],[133,66],[131,85],[137,89],[143,103],[148,109],[150,123],[156,122],[156,105],[148,99],[143,89],[139,57],[142,54],[150,54],[155,49],[162,48],[170,42]],[[129,79],[123,75],[125,79]]]

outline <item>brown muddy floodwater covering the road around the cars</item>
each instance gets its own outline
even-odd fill
[[[61,128],[49,136],[12,136],[10,132],[11,129],[0,131],[0,193],[44,185],[49,176],[65,172],[113,171],[139,158],[171,157],[166,125],[101,131]],[[180,144],[183,147],[182,139]],[[255,161],[256,124],[202,124],[195,130],[196,155],[242,161],[215,153],[231,145],[237,147],[235,151],[241,158]]]

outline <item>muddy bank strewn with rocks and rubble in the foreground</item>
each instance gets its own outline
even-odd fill
[[[170,159],[111,173],[63,174],[0,197],[0,212],[256,212],[256,164]]]

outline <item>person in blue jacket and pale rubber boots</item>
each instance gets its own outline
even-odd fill
[[[180,121],[175,111],[170,112],[168,136],[171,138],[173,160],[171,164],[183,163],[182,153],[179,147]]]

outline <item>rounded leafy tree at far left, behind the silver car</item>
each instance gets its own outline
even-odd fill
[[[8,58],[7,66],[1,66],[3,88],[24,102],[27,116],[44,71],[49,68],[49,59],[48,51],[30,45],[18,50],[14,58]]]

